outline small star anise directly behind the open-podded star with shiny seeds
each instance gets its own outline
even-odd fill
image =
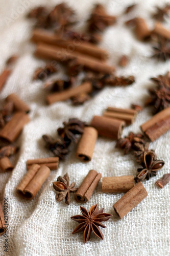
[[[144,162],[144,153],[152,152],[153,160],[156,160],[156,154],[154,150],[149,150],[149,143],[141,144],[134,143],[133,144],[134,156],[136,158],[136,162],[138,164],[142,164]]]

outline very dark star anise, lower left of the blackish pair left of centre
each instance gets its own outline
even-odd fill
[[[42,136],[45,141],[45,147],[48,148],[56,157],[64,159],[65,155],[68,154],[66,144],[63,140],[54,140],[51,136],[45,134]]]

